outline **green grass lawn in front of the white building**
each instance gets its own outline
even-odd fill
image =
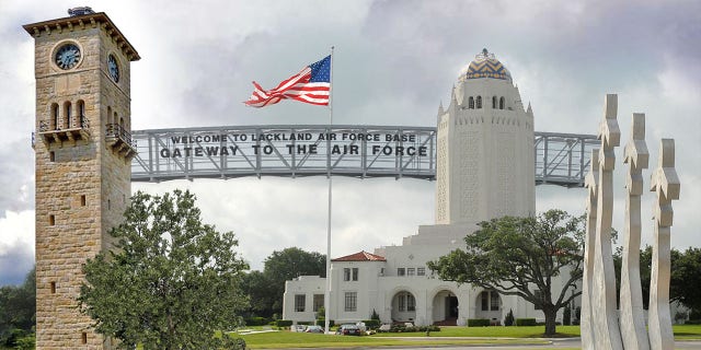
[[[701,340],[701,325],[674,326],[675,339]],[[440,331],[377,334],[367,337],[330,336],[291,331],[242,335],[251,349],[345,348],[445,345],[543,345],[543,326],[535,327],[441,327]],[[558,337],[578,337],[578,326],[559,326]]]

